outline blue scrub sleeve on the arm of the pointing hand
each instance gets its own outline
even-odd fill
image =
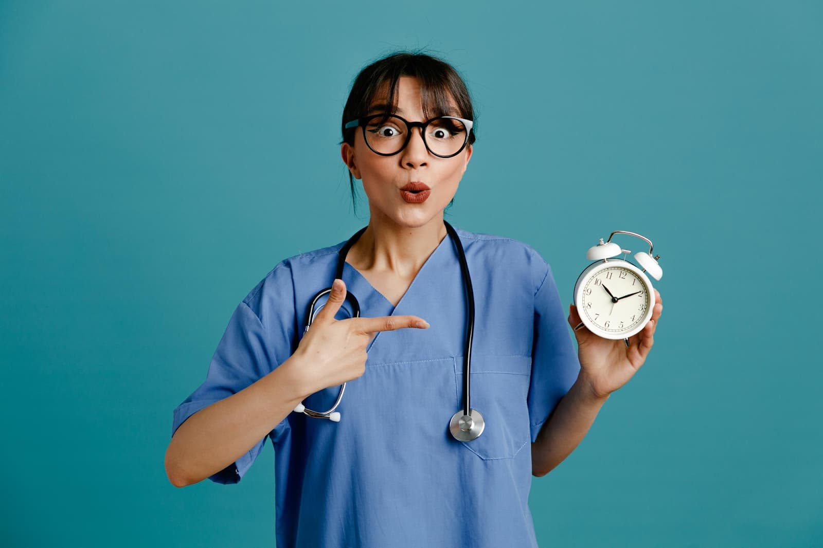
[[[257,382],[291,355],[294,332],[291,272],[287,268],[280,270],[277,272],[275,267],[235,308],[212,355],[206,380],[174,409],[172,436],[188,417]],[[274,441],[288,427],[284,418],[268,436]],[[266,438],[259,440],[248,453],[209,479],[220,484],[237,483],[257,459],[265,442]]]

